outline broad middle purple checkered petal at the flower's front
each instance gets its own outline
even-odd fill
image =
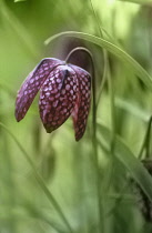
[[[40,116],[48,133],[71,115],[77,101],[78,80],[68,65],[57,67],[43,83],[40,92]]]

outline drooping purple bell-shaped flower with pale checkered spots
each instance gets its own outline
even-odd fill
[[[80,67],[45,58],[28,75],[18,91],[16,119],[24,118],[40,91],[39,112],[48,133],[58,129],[72,115],[75,140],[87,125],[91,101],[91,77]]]

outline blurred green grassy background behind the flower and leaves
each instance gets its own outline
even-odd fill
[[[134,3],[135,2],[135,3]],[[14,119],[17,91],[41,59],[65,59],[83,45],[95,61],[98,121],[118,133],[138,158],[152,112],[152,92],[128,63],[91,42],[61,37],[49,45],[44,41],[59,32],[81,31],[100,34],[126,51],[152,74],[152,1],[136,0],[1,0],[0,1],[0,122],[26,149],[45,185],[64,213],[71,232],[149,233],[151,223],[142,216],[128,184],[129,171],[112,153],[99,146],[101,225],[97,204],[95,168],[92,152],[92,113],[87,132],[74,141],[71,119],[47,134],[40,121],[38,98],[26,118]],[[89,70],[88,58],[75,63]],[[105,67],[107,64],[107,67]],[[114,115],[108,82],[114,92]],[[113,98],[113,95],[112,95]],[[98,128],[102,142],[102,131]],[[107,141],[110,144],[110,139]],[[125,156],[125,154],[123,154]],[[0,233],[70,232],[36,180],[18,144],[0,128]]]

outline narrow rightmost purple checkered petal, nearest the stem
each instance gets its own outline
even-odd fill
[[[91,77],[90,74],[75,65],[70,67],[75,71],[79,82],[78,99],[72,112],[75,140],[79,141],[85,131],[87,120],[91,102]]]

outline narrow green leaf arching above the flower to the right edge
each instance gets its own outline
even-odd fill
[[[152,78],[150,77],[150,74],[131,55],[129,55],[125,51],[120,49],[118,45],[115,45],[104,39],[101,39],[99,37],[83,33],[83,32],[77,32],[77,31],[65,31],[65,32],[54,34],[54,36],[50,37],[49,39],[47,39],[44,41],[44,44],[49,44],[51,41],[53,41],[60,37],[80,38],[80,39],[87,40],[89,42],[92,42],[101,48],[107,49],[109,52],[111,52],[112,54],[118,57],[121,61],[123,61],[128,65],[130,65],[132,71],[143,81],[143,83],[148,88],[150,88],[150,90],[152,90]]]

